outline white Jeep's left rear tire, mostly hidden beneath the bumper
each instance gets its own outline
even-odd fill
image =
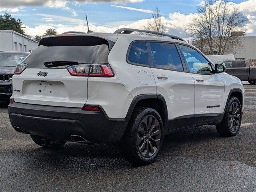
[[[64,140],[47,140],[42,136],[30,135],[32,140],[44,148],[59,148],[66,143]]]

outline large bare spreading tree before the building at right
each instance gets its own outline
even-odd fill
[[[248,22],[239,7],[228,0],[205,0],[196,9],[198,14],[188,26],[190,37],[203,37],[207,54],[235,52],[242,41],[239,36],[231,36],[231,32],[241,30]]]

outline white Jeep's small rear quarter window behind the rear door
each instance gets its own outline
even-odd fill
[[[134,42],[130,48],[128,61],[148,66],[148,52],[146,42]]]

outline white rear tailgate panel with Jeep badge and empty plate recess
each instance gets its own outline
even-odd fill
[[[47,76],[38,76],[40,71]],[[12,77],[12,98],[21,103],[82,107],[87,100],[87,79],[71,76],[66,69],[27,68]]]

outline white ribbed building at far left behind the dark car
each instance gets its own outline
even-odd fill
[[[0,30],[0,51],[32,52],[39,42],[11,30]]]

